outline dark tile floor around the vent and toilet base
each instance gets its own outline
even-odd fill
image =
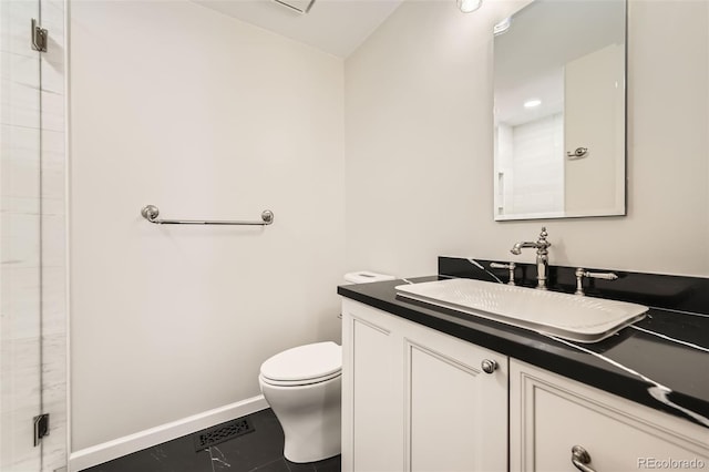
[[[189,434],[85,472],[339,472],[340,456],[307,464],[284,459],[284,431],[270,409],[250,414],[254,432],[195,452]]]

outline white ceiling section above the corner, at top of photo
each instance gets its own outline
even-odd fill
[[[347,58],[403,0],[315,0],[310,11],[305,14],[274,0],[193,1],[327,53]]]

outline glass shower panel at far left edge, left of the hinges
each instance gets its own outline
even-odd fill
[[[40,3],[0,0],[0,470],[42,470]]]

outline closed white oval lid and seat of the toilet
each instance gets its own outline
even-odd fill
[[[310,380],[342,369],[342,347],[332,341],[298,346],[277,353],[261,365],[271,380]]]

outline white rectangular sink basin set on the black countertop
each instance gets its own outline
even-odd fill
[[[643,319],[647,307],[626,301],[466,278],[400,285],[401,297],[578,342],[597,342]]]

